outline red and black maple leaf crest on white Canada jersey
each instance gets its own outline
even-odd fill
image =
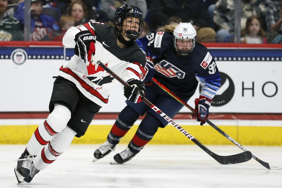
[[[105,63],[105,66],[108,66],[108,64],[109,62]],[[88,76],[86,76],[86,78],[88,78],[88,80],[95,83],[96,85],[102,86],[103,84],[111,83],[114,79],[109,73],[107,73],[107,71],[98,66],[98,64],[96,63],[94,65],[92,63],[89,63],[86,68],[88,73]]]

